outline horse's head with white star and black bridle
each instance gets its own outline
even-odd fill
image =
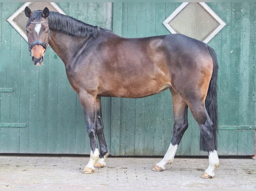
[[[45,7],[43,11],[32,12],[26,7],[25,15],[29,18],[26,25],[29,54],[32,57],[33,64],[41,66],[50,35],[47,21],[49,9]]]

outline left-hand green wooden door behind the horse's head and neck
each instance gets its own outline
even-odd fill
[[[44,65],[32,65],[27,42],[7,22],[24,3],[0,3],[0,153],[90,154],[78,96],[65,66],[48,49]],[[57,3],[67,14],[112,28],[111,3]],[[111,98],[102,98],[104,133],[110,145]]]

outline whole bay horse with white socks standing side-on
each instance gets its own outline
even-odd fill
[[[29,53],[35,66],[43,63],[48,44],[66,67],[71,87],[79,95],[91,153],[82,173],[106,165],[101,96],[138,98],[169,89],[173,100],[173,137],[153,171],[163,171],[173,159],[188,127],[189,107],[201,131],[201,150],[209,153],[202,178],[214,177],[217,154],[217,73],[215,51],[181,34],[123,38],[70,16],[25,8]],[[97,137],[100,151],[98,149]]]

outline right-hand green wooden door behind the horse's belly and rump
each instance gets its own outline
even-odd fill
[[[123,37],[170,34],[162,22],[180,4],[114,3],[113,31]],[[220,65],[218,153],[254,155],[256,3],[207,4],[227,23],[208,43]],[[170,92],[112,100],[118,105],[112,107],[112,155],[164,155],[172,138]],[[199,127],[190,112],[188,122],[177,155],[207,155],[199,150]]]

